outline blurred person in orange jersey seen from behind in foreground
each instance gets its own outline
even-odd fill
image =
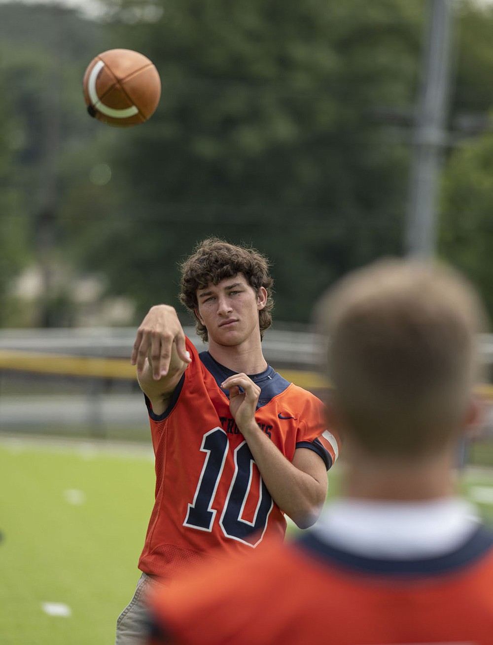
[[[153,595],[148,642],[491,645],[493,533],[455,490],[458,441],[478,422],[476,293],[388,260],[343,279],[318,317],[340,497],[293,542]]]

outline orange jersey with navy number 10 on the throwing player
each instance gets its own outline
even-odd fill
[[[233,374],[187,339],[191,364],[168,409],[155,415],[155,504],[139,568],[169,577],[204,553],[251,550],[284,537],[284,514],[273,502],[229,412],[220,383]],[[261,388],[256,421],[291,461],[296,448],[317,452],[331,467],[338,454],[320,399],[270,366],[251,376]]]

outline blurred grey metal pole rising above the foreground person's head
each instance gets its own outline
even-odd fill
[[[454,0],[429,0],[427,40],[411,161],[407,252],[434,256],[436,246],[437,180],[447,143],[450,83],[450,41]]]

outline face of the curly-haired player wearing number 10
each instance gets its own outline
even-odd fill
[[[238,345],[260,334],[258,312],[266,306],[267,292],[247,283],[242,273],[197,291],[198,315],[209,342]]]

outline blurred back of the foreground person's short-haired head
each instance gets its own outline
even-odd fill
[[[340,432],[368,455],[419,459],[456,441],[479,377],[485,312],[448,268],[386,260],[320,304]]]

